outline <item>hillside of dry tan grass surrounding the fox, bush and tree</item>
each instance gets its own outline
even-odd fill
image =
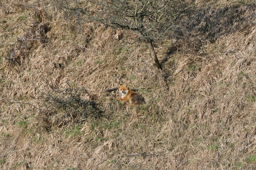
[[[199,2],[183,34],[155,42],[160,60],[177,48],[162,71],[145,44],[116,41],[132,42],[130,32],[83,22],[81,34],[76,18],[47,2],[1,5],[1,169],[255,167],[255,2]],[[25,34],[38,40],[15,44]],[[75,121],[60,110],[46,125],[33,106],[4,103],[44,108],[33,98],[48,88],[41,78],[85,87],[90,95],[81,98],[104,112]],[[124,83],[145,103],[129,107],[117,92],[99,93]],[[134,154],[147,156],[127,156]]]

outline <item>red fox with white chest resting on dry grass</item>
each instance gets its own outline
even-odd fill
[[[130,106],[136,106],[138,104],[142,103],[142,97],[136,93],[135,91],[132,91],[131,89],[128,88],[128,85],[119,85],[119,92],[122,94],[122,97],[119,97],[118,99],[121,101],[130,101]]]

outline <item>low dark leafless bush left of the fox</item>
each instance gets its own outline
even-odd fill
[[[77,123],[86,118],[101,116],[96,103],[82,99],[88,94],[85,88],[72,88],[69,82],[55,86],[52,82],[44,80],[48,89],[42,89],[39,100],[44,107],[40,109],[37,119],[48,126],[64,126],[68,123]],[[67,86],[67,87],[64,87]]]

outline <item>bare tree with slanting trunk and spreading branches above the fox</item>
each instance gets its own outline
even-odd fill
[[[79,3],[78,3],[79,2]],[[174,22],[193,9],[195,0],[55,0],[61,9],[75,10],[109,27],[132,30],[150,47],[156,67],[161,69],[152,40],[164,37]],[[79,17],[78,13],[78,17]]]

